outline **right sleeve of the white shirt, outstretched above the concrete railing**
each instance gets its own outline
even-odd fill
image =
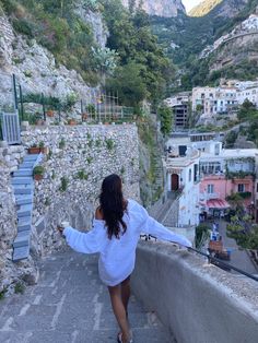
[[[185,236],[174,233],[173,230],[166,228],[164,225],[155,221],[150,216],[143,206],[141,208],[141,232],[144,234],[152,235],[162,240],[168,240],[177,243],[184,247],[191,247],[191,243]]]

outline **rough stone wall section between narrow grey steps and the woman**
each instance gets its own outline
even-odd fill
[[[58,223],[89,229],[105,176],[122,177],[126,197],[140,199],[138,131],[134,125],[48,126],[22,132],[24,146],[44,142],[44,179],[35,181],[32,252],[61,245]]]

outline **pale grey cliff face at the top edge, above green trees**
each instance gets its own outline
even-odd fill
[[[130,0],[122,0],[125,7],[129,7]],[[142,3],[142,9],[150,15],[159,15],[165,17],[177,16],[178,11],[186,12],[181,0],[136,0],[136,4]]]

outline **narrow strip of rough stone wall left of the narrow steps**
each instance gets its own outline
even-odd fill
[[[15,264],[12,262],[12,243],[16,236],[16,208],[10,173],[16,170],[24,153],[23,146],[0,147],[0,294],[12,292],[19,280],[31,282],[32,276],[35,280],[37,274],[32,258]]]

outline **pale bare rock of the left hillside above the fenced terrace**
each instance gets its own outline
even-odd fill
[[[101,16],[93,12],[81,12],[90,22],[99,46],[104,47],[107,32]],[[87,100],[92,90],[81,75],[64,66],[57,66],[55,57],[35,39],[27,40],[15,35],[7,16],[0,16],[0,103],[10,106],[13,100],[11,75],[15,74],[24,93],[42,93],[66,98],[75,94]]]

